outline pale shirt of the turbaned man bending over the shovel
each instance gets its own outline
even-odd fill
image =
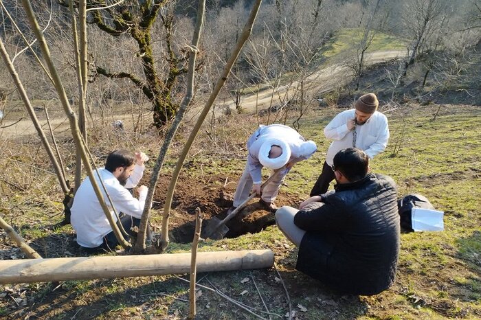
[[[296,163],[308,159],[313,155],[302,153],[302,145],[305,143],[304,138],[296,130],[283,124],[271,124],[269,126],[259,126],[259,128],[247,140],[247,167],[252,177],[254,184],[262,182],[262,164],[259,161],[260,146],[270,138],[281,139],[289,145],[291,149],[290,163]],[[315,150],[314,150],[315,151]]]

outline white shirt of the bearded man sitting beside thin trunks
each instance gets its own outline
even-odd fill
[[[139,199],[137,200],[137,198],[134,198],[126,188],[135,187],[135,185],[139,183],[144,174],[144,168],[144,165],[136,164],[125,186],[122,186],[118,179],[115,178],[109,170],[106,170],[105,168],[100,168],[98,170],[118,213],[122,212],[135,218],[142,217],[147,192],[139,194]],[[105,192],[100,185],[97,172],[94,171],[93,174],[96,177],[97,183],[99,183],[100,190],[102,190],[102,194],[109,207],[113,220],[117,221]],[[100,244],[102,244],[102,238],[112,231],[109,220],[107,220],[107,217],[100,206],[88,176],[82,181],[82,184],[80,184],[80,187],[75,194],[74,205],[71,207],[71,225],[77,233],[77,243],[82,247],[87,248],[100,246]]]

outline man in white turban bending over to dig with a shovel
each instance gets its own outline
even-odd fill
[[[234,193],[232,212],[236,207],[249,198],[249,192],[261,194],[262,167],[278,170],[285,166],[281,172],[264,187],[259,203],[270,212],[276,212],[273,204],[284,177],[292,166],[302,160],[308,159],[317,150],[314,141],[305,141],[293,128],[282,124],[259,126],[247,140],[247,165],[240,176]],[[254,186],[253,186],[254,185]]]

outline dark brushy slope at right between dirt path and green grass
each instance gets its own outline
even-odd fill
[[[364,91],[377,93],[381,103],[416,102],[419,104],[471,104],[481,106],[481,44],[467,48],[461,54],[436,52],[432,56],[420,56],[407,71],[407,76],[396,77],[403,70],[400,61],[372,65],[361,76],[359,91],[355,84],[341,89],[339,104],[352,102],[353,95]],[[429,71],[425,85],[423,80],[427,66]]]

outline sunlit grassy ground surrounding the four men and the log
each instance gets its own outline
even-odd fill
[[[399,268],[392,288],[374,297],[336,295],[295,271],[297,249],[275,226],[238,238],[207,241],[200,250],[271,249],[275,252],[277,271],[201,274],[199,284],[256,308],[252,312],[265,319],[269,314],[265,313],[262,299],[271,319],[285,319],[288,301],[297,319],[481,317],[481,130],[478,130],[481,110],[446,106],[433,121],[436,111],[436,106],[405,105],[402,111],[388,113],[390,144],[371,165],[372,171],[395,179],[399,195],[424,194],[436,209],[445,212],[445,231],[402,235]],[[317,142],[319,152],[309,161],[295,165],[280,191],[280,203],[295,204],[307,196],[328,146],[322,128],[337,112],[337,109],[318,109],[303,118],[300,132]],[[225,188],[225,179],[236,181],[240,176],[245,157],[243,144],[255,126],[256,119],[240,115],[219,123],[215,144],[205,134],[199,137],[178,189],[194,193],[199,188],[203,196],[194,199],[197,205],[212,205],[208,197],[213,202],[219,198],[217,191]],[[182,135],[186,134],[188,127],[183,129]],[[113,147],[107,144],[116,141],[104,138],[102,145],[91,146],[99,150],[98,155]],[[122,143],[125,146],[115,147],[129,148],[127,141]],[[156,152],[156,143],[147,135],[136,144],[151,155]],[[6,148],[11,152],[9,155]],[[167,172],[175,162],[176,152],[174,148],[166,164]],[[0,214],[44,257],[77,255],[71,227],[54,228],[62,218],[58,212],[62,207],[60,194],[54,177],[42,171],[49,168],[41,153],[25,146],[2,145],[0,162],[8,170],[0,181]],[[234,183],[228,188],[232,192]],[[180,207],[189,198],[181,191],[178,194],[176,201]],[[177,209],[171,219],[175,216],[190,219],[191,214]],[[158,224],[157,209],[154,215]],[[2,259],[23,257],[5,235],[1,249]],[[190,244],[172,243],[169,247],[170,252],[188,250]],[[249,281],[241,282],[246,277]],[[208,288],[200,290],[199,319],[255,319],[219,293]],[[244,290],[247,294],[241,295]],[[188,314],[185,301],[188,284],[175,276],[0,286],[0,297],[3,319],[181,319]]]

